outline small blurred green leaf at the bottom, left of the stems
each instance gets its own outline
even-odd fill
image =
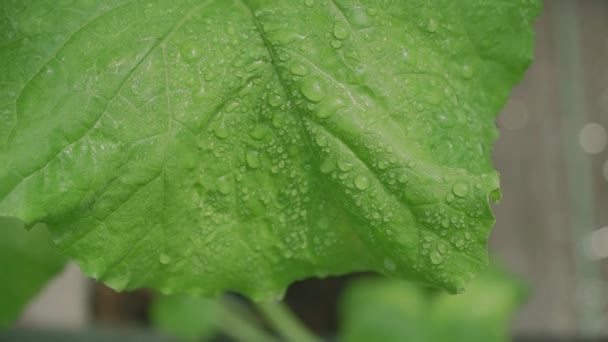
[[[152,324],[172,336],[202,340],[216,332],[219,303],[201,297],[158,296],[150,310]]]

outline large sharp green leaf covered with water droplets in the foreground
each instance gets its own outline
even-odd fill
[[[487,264],[536,1],[4,1],[0,215],[115,289]]]

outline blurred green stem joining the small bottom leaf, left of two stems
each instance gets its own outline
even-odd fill
[[[243,317],[233,305],[223,304],[216,324],[225,335],[237,341],[278,342],[276,338]]]

